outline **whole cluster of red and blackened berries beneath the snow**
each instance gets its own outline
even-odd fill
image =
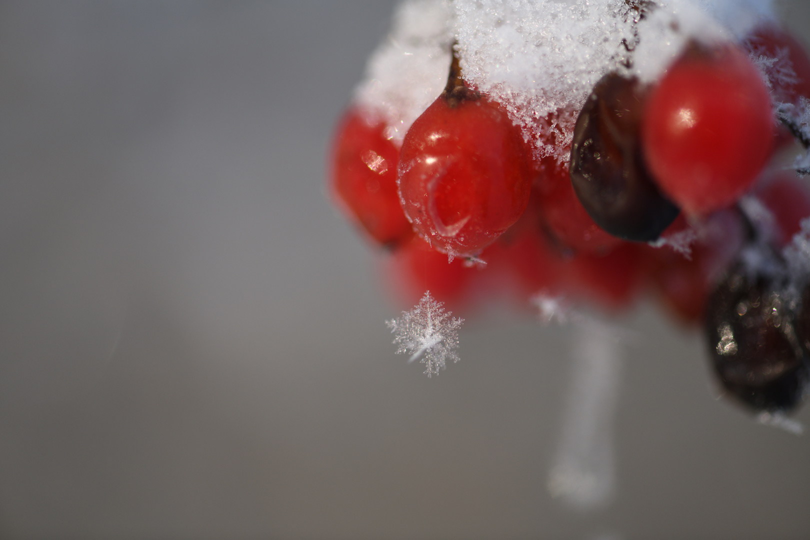
[[[605,74],[580,110],[555,113],[577,118],[568,140],[527,136],[460,65],[455,48],[444,91],[401,146],[360,106],[335,136],[335,199],[391,250],[386,274],[410,300],[429,290],[458,309],[497,293],[615,310],[652,292],[704,326],[728,393],[755,410],[796,406],[810,287],[782,250],[810,190],[769,166],[803,128],[778,128],[779,111],[810,96],[796,40],[768,25],[738,44],[689,41],[653,83]],[[544,146],[556,152],[533,151]]]

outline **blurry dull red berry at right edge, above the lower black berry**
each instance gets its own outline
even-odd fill
[[[810,188],[792,172],[783,172],[757,185],[757,198],[774,215],[774,244],[782,248],[810,217]]]

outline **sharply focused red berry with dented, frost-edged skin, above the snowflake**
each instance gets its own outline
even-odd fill
[[[530,190],[527,145],[505,110],[485,97],[440,96],[405,134],[403,210],[444,253],[480,253],[522,215]]]

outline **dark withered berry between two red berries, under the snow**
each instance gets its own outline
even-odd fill
[[[655,185],[639,140],[645,92],[637,79],[599,79],[573,132],[573,190],[599,227],[625,240],[656,240],[678,208]]]

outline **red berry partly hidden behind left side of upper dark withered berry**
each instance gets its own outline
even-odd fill
[[[551,160],[548,160],[551,161]],[[606,253],[621,240],[603,231],[574,193],[568,168],[544,164],[536,183],[545,225],[563,244],[575,251]]]

